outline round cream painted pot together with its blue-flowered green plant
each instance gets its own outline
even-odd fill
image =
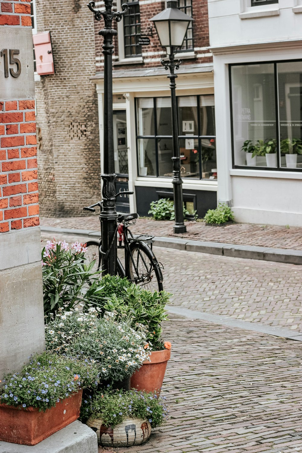
[[[146,442],[151,428],[163,424],[167,412],[156,394],[107,390],[88,403],[86,424],[96,431],[99,445],[129,447]]]

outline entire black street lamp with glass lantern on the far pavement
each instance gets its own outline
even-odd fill
[[[151,20],[154,23],[158,34],[159,42],[166,49],[169,62],[162,60],[165,69],[170,69],[168,78],[170,79],[171,104],[172,104],[172,135],[173,135],[173,194],[174,194],[174,212],[175,224],[174,233],[185,233],[187,228],[184,224],[183,217],[183,199],[182,199],[182,177],[181,161],[178,143],[178,123],[177,123],[177,102],[176,102],[176,82],[177,74],[175,69],[179,68],[181,61],[175,61],[174,57],[178,48],[182,47],[183,40],[187,33],[188,26],[193,20],[192,17],[184,14],[177,8],[177,0],[167,2],[167,8],[154,16]]]

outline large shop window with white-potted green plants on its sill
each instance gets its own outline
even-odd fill
[[[231,66],[233,164],[302,169],[302,62]]]

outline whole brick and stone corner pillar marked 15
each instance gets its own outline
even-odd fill
[[[0,51],[1,379],[44,347],[30,0],[0,0]]]

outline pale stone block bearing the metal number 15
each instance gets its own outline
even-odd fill
[[[0,27],[0,100],[34,99],[33,35],[29,28]]]

